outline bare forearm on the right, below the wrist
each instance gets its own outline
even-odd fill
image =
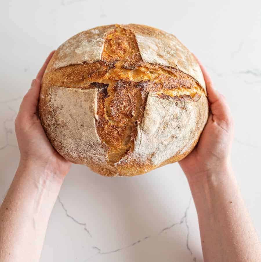
[[[261,261],[261,248],[229,168],[189,181],[196,205],[204,262]]]

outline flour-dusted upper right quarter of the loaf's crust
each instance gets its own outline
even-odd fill
[[[137,40],[142,60],[173,67],[192,76],[206,91],[204,77],[194,55],[172,34],[146,25],[124,25]]]

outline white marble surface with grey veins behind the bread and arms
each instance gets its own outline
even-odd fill
[[[175,34],[202,60],[227,97],[235,119],[232,162],[261,235],[261,3],[243,3],[2,1],[0,199],[19,162],[14,118],[48,53],[98,25],[140,23]],[[59,198],[41,262],[203,260],[195,206],[178,164],[133,178],[105,178],[73,165]]]

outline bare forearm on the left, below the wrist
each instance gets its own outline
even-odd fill
[[[62,181],[41,167],[19,166],[0,209],[0,261],[39,261]]]

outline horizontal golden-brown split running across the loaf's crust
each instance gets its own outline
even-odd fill
[[[157,83],[157,91],[197,87],[198,93],[204,93],[192,77],[181,71],[143,62],[142,64],[143,66],[135,65],[135,69],[126,69],[123,65],[106,64],[103,61],[70,65],[45,73],[43,81],[49,85],[68,88],[92,88],[89,87],[91,82],[105,83],[107,80],[125,79],[135,82],[151,81],[153,88]]]

